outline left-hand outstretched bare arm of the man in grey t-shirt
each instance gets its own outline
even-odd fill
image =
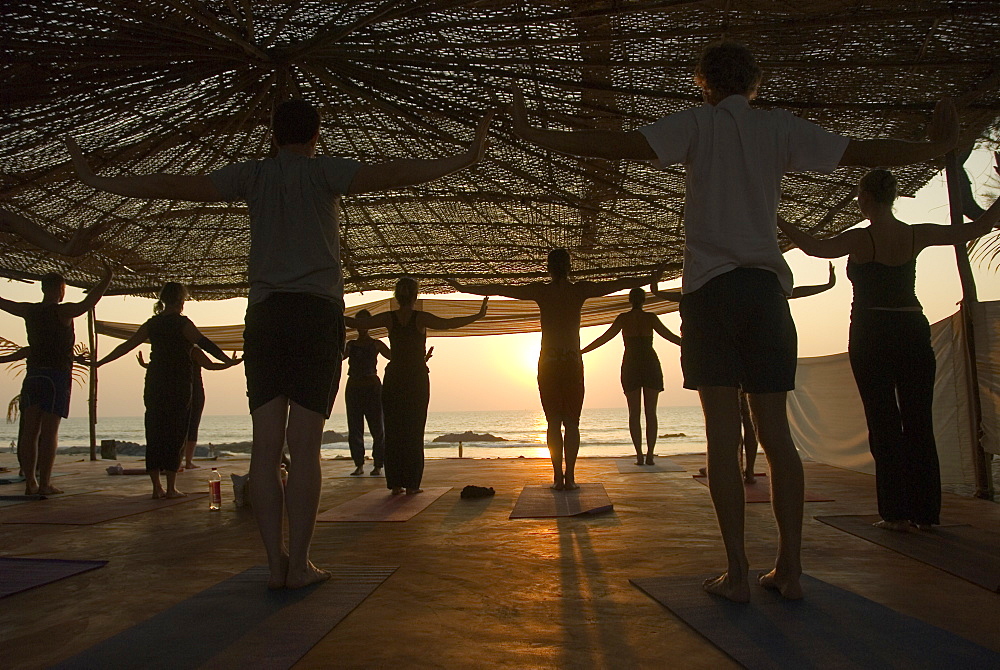
[[[207,175],[147,174],[134,177],[99,177],[72,137],[66,138],[76,174],[84,184],[99,191],[147,200],[218,202],[222,195]]]

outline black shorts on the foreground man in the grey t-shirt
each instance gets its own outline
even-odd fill
[[[243,367],[250,411],[285,396],[329,418],[344,348],[340,307],[307,293],[274,293],[247,308]]]

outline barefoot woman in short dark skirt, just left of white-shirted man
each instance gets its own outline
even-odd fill
[[[628,430],[635,447],[636,465],[653,465],[656,449],[656,401],[663,391],[663,369],[653,349],[653,333],[680,346],[681,338],[663,325],[660,318],[642,306],[646,292],[634,288],[628,294],[632,309],[615,317],[603,335],[585,346],[580,353],[606,344],[619,332],[625,342],[622,356],[622,391],[628,403]],[[646,456],[642,455],[642,411],[646,412]]]

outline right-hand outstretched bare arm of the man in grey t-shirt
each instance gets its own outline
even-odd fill
[[[492,120],[493,112],[483,117],[476,127],[476,134],[469,148],[460,154],[447,158],[402,158],[379,165],[362,165],[351,180],[347,192],[356,195],[423,184],[475,165],[486,152],[486,131]]]

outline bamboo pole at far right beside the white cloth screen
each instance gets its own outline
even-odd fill
[[[965,168],[958,161],[958,155],[949,151],[945,157],[945,174],[948,179],[948,205],[951,211],[951,225],[965,223],[962,204],[962,178],[960,171]],[[969,253],[964,244],[955,245],[955,260],[958,276],[962,282],[962,330],[965,334],[966,370],[968,371],[969,422],[972,432],[972,467],[975,477],[976,498],[993,499],[993,478],[986,459],[982,442],[983,407],[979,397],[979,374],[976,369],[976,338],[973,324],[973,309],[979,304],[976,281],[972,275]]]

